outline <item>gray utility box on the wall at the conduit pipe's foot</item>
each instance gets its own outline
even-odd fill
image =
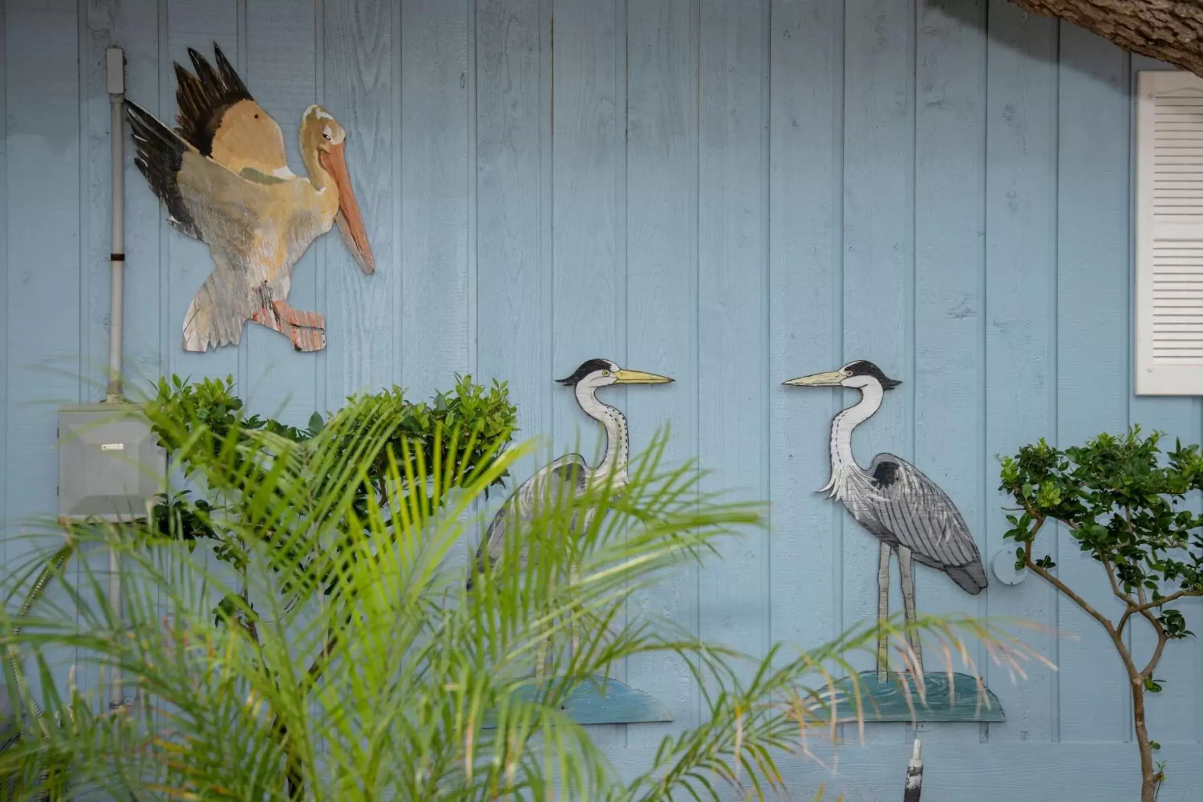
[[[167,455],[138,404],[59,409],[59,518],[131,521],[164,492]]]

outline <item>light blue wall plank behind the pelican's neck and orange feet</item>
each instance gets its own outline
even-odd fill
[[[298,136],[301,118],[318,99],[315,38],[314,0],[247,0],[243,79],[284,132],[289,167],[297,174],[304,173]],[[354,147],[351,143],[348,149]],[[352,180],[358,178],[351,176]],[[327,237],[339,240],[338,227]],[[292,268],[289,303],[296,309],[326,314],[325,299],[319,302],[316,297],[316,244]],[[345,333],[330,329],[327,338]],[[314,397],[318,355],[294,350],[288,337],[262,326],[248,326],[244,337],[248,372],[243,392],[250,409],[288,423],[306,423],[318,408]]]

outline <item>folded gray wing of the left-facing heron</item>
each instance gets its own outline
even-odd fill
[[[973,535],[938,485],[889,453],[873,458],[869,477],[872,491],[866,501],[881,528],[920,563],[944,571],[968,593],[985,588],[985,570]]]

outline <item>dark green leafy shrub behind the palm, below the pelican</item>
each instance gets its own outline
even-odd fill
[[[247,519],[248,513],[251,517],[254,513],[245,509],[247,497],[241,488],[223,487],[214,480],[214,467],[229,475],[239,475],[260,462],[260,451],[271,455],[279,451],[280,444],[290,448],[297,446],[296,455],[308,462],[309,470],[315,474],[316,491],[303,497],[312,500],[315,492],[322,489],[321,475],[330,474],[330,465],[363,462],[360,452],[363,438],[377,432],[383,421],[387,422],[389,436],[384,447],[363,462],[362,476],[355,486],[351,510],[363,519],[368,506],[387,505],[389,462],[385,455],[408,455],[409,464],[404,470],[420,475],[421,480],[428,480],[443,467],[451,467],[455,481],[463,483],[496,458],[517,428],[517,409],[509,398],[506,385],[494,381],[485,387],[473,384],[472,376],[456,376],[455,388],[437,393],[429,403],[410,402],[396,386],[352,396],[334,415],[322,417],[314,412],[306,428],[249,415],[233,392],[232,376],[224,381],[203,379],[196,382],[172,376],[159,380],[155,396],[146,404],[146,414],[172,463],[184,476],[196,480],[202,494],[207,494],[195,500],[189,489],[165,494],[153,510],[153,528],[161,539],[184,541],[190,548],[200,541],[211,542],[214,557],[243,576],[242,589],[221,599],[219,610],[233,614],[233,620],[251,631],[256,616],[245,592],[249,542],[244,534],[223,525],[221,521]],[[332,441],[330,436],[319,436],[336,420],[338,427]],[[500,471],[493,485],[502,485],[508,475]],[[427,513],[444,503],[440,494],[429,492],[426,481],[415,482],[413,488],[421,488],[417,497]],[[268,542],[275,537],[274,531],[260,529],[253,540]],[[333,548],[340,552],[345,545],[334,543]],[[330,584],[328,575],[315,571],[316,554],[290,552],[280,556],[284,559],[277,570],[288,564],[292,575],[282,575],[277,587],[292,602],[308,583]]]

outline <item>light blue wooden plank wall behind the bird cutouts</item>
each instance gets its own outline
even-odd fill
[[[259,411],[304,420],[350,392],[417,397],[455,373],[510,382],[523,434],[593,447],[552,379],[603,356],[676,384],[616,393],[635,447],[671,422],[712,488],[772,501],[772,533],[683,569],[629,614],[664,614],[751,652],[813,644],[872,616],[876,545],[814,493],[829,392],[783,379],[870,358],[905,384],[858,432],[913,458],[990,559],[1006,524],[995,455],[1130,422],[1203,438],[1193,398],[1131,394],[1134,71],[1156,67],[1003,0],[7,0],[0,93],[0,518],[54,510],[54,409],[94,400],[108,309],[108,99],[174,113],[172,60],[219,41],[288,133],[320,101],[348,156],[378,272],[330,237],[292,303],[328,347],[251,328],[190,355],[180,323],[209,269],[126,166],[128,364],[233,374]],[[0,547],[12,563],[25,545]],[[1069,541],[1063,575],[1106,589]],[[1029,618],[1060,666],[1012,685],[1007,721],[924,726],[924,800],[1125,800],[1136,750],[1103,634],[1029,580],[979,598],[920,580],[934,612]],[[1203,610],[1189,608],[1203,631]],[[978,654],[979,659],[984,655]],[[680,665],[621,676],[671,725],[599,729],[633,768],[697,721]],[[1174,644],[1152,700],[1162,800],[1203,783],[1203,648]],[[911,733],[870,727],[826,782],[895,800]],[[1122,779],[1116,779],[1116,767]],[[1195,786],[1192,789],[1192,785]],[[801,795],[801,794],[800,794]]]

